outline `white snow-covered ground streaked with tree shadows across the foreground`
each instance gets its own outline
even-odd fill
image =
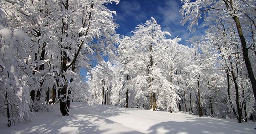
[[[0,116],[1,134],[256,134],[254,124],[235,119],[215,119],[185,113],[149,111],[109,105],[90,107],[71,103],[70,116],[55,112],[37,112],[28,124],[6,127]]]

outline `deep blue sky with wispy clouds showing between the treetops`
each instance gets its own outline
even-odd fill
[[[131,36],[130,32],[138,24],[145,23],[152,16],[162,26],[162,31],[170,32],[171,38],[180,37],[181,44],[190,46],[186,40],[193,36],[202,36],[205,28],[202,27],[202,21],[199,21],[195,33],[189,33],[187,25],[181,26],[182,16],[179,12],[181,5],[180,0],[120,0],[117,5],[113,3],[106,6],[117,13],[114,19],[120,26],[116,30],[118,34]],[[86,76],[85,69],[80,68],[80,72],[82,77]]]

